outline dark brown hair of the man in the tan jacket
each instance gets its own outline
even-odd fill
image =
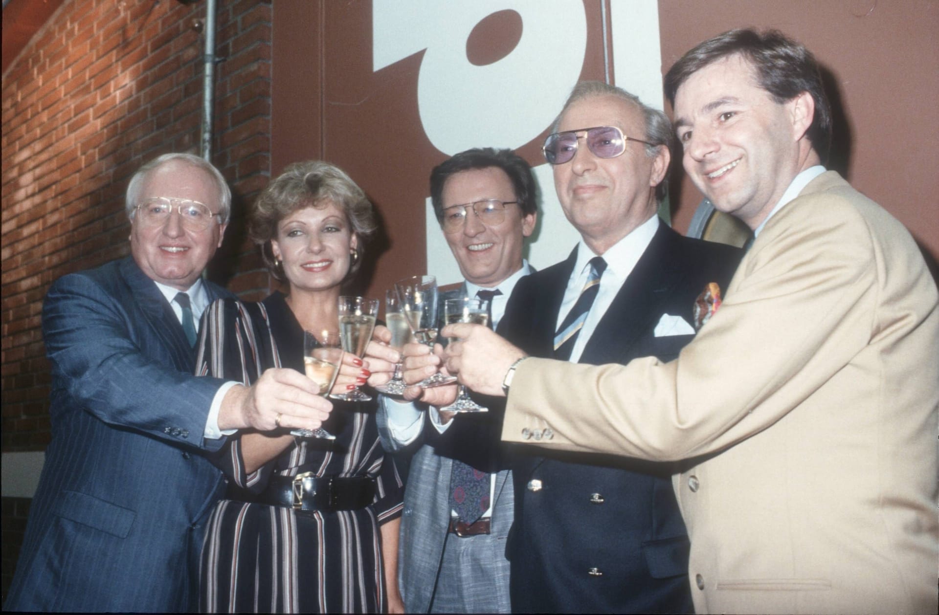
[[[672,107],[678,88],[692,74],[722,58],[740,54],[753,67],[757,81],[779,103],[808,92],[815,100],[815,116],[808,140],[822,161],[831,148],[831,108],[822,85],[818,62],[804,45],[778,30],[758,32],[738,28],[709,38],[683,55],[665,75],[665,95]]]

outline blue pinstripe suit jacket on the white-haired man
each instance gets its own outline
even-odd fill
[[[187,610],[223,493],[204,456],[222,440],[203,440],[222,381],[192,377],[176,315],[130,257],[56,281],[42,331],[53,437],[4,607]]]

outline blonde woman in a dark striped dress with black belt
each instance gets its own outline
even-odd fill
[[[198,373],[245,384],[272,366],[302,373],[303,331],[337,329],[340,288],[375,229],[371,204],[343,171],[320,161],[287,167],[260,194],[249,221],[250,237],[287,293],[211,304]],[[346,355],[336,386],[362,382],[365,367]],[[374,407],[335,402],[323,427],[336,439],[293,438],[287,430],[229,438],[218,465],[231,488],[203,546],[202,610],[403,610],[394,580],[403,489],[378,443]],[[306,472],[315,488],[304,490],[297,510],[294,479]]]

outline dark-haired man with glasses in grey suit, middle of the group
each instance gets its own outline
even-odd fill
[[[441,292],[440,305],[460,297],[487,300],[498,329],[516,282],[531,272],[522,258],[537,217],[531,168],[508,149],[469,149],[433,170],[430,193],[465,278]],[[505,540],[514,511],[511,473],[498,451],[499,423],[485,413],[452,420],[451,414],[387,397],[379,407],[385,448],[417,449],[401,524],[401,594],[408,612],[509,612]],[[491,435],[485,442],[461,441],[448,429],[454,423],[472,423],[467,426]],[[478,487],[472,505],[471,496],[457,495],[467,480]]]

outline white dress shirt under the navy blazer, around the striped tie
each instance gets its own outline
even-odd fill
[[[600,319],[607,313],[613,299],[623,287],[626,278],[632,273],[639,258],[649,247],[649,243],[658,230],[658,216],[655,215],[644,223],[639,224],[626,237],[620,239],[608,249],[604,254],[593,254],[593,250],[587,247],[587,244],[581,238],[577,244],[577,262],[574,263],[574,270],[571,272],[570,280],[567,282],[567,288],[564,290],[564,299],[561,302],[561,309],[558,310],[558,322],[555,324],[554,331],[558,331],[561,323],[571,311],[577,299],[580,297],[580,291],[584,284],[587,284],[587,278],[590,275],[590,260],[594,256],[603,256],[607,261],[607,269],[600,278],[600,288],[593,300],[590,313],[584,320],[584,325],[577,335],[574,342],[574,348],[571,350],[569,361],[577,362],[583,353],[584,346],[590,340],[593,331],[596,330]]]

